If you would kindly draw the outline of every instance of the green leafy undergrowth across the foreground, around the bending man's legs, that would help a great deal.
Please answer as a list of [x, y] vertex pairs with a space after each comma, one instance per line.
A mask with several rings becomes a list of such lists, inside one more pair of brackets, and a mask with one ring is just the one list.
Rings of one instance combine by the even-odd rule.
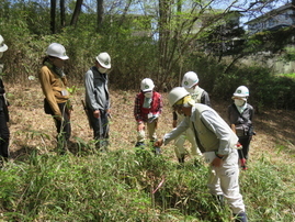
[[[2, 221], [230, 221], [208, 195], [207, 167], [149, 149], [32, 152], [0, 170]], [[265, 154], [240, 175], [251, 221], [293, 221], [294, 167]]]

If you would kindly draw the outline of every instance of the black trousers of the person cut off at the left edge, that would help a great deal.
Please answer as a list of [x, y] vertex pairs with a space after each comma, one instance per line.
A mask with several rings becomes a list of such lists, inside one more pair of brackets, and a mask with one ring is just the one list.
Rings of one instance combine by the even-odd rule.
[[9, 138], [10, 132], [7, 118], [3, 111], [0, 111], [0, 156], [7, 158], [9, 156]]

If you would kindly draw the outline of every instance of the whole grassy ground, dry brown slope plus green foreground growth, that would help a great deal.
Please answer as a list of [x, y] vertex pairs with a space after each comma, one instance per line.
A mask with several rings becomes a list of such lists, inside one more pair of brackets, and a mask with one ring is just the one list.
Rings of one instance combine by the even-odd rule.
[[[70, 153], [55, 152], [55, 126], [43, 111], [38, 82], [8, 85], [11, 158], [0, 170], [0, 221], [231, 221], [207, 193], [207, 167], [188, 155], [179, 168], [173, 144], [156, 156], [135, 152], [135, 91], [111, 90], [111, 146], [93, 147], [83, 113], [83, 88], [72, 95]], [[168, 108], [158, 135], [172, 129]], [[251, 100], [250, 100], [251, 101]], [[212, 98], [226, 118], [228, 101]], [[250, 102], [251, 103], [251, 102]], [[250, 163], [240, 174], [241, 193], [250, 221], [295, 221], [295, 112], [260, 110]], [[186, 144], [189, 147], [189, 144]]]

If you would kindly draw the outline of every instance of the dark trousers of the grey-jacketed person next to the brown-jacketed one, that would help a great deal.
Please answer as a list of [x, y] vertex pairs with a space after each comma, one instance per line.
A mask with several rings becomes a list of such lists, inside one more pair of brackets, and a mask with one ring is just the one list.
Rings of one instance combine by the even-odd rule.
[[109, 115], [105, 110], [100, 110], [100, 118], [94, 118], [89, 113], [89, 120], [93, 129], [93, 137], [97, 140], [97, 147], [102, 148], [109, 145]]

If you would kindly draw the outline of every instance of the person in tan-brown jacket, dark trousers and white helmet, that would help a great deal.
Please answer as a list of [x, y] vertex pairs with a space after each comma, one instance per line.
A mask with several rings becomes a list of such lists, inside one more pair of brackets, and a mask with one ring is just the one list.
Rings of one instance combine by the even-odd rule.
[[69, 57], [66, 49], [58, 43], [52, 43], [46, 51], [46, 57], [38, 73], [44, 99], [44, 111], [50, 114], [57, 130], [57, 148], [65, 154], [71, 135], [70, 113], [72, 108], [67, 90], [67, 77], [63, 70], [65, 60]]

